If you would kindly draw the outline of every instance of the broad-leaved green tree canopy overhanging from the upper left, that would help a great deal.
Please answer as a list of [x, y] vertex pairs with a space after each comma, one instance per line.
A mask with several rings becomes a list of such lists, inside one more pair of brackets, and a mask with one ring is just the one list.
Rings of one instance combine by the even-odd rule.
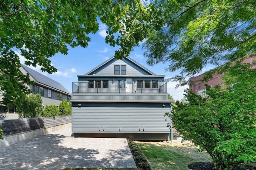
[[147, 37], [151, 29], [160, 29], [161, 10], [139, 0], [2, 0], [0, 5], [0, 88], [4, 101], [16, 104], [30, 90], [28, 75], [19, 70], [20, 58], [26, 65], [42, 66], [56, 72], [50, 57], [68, 54], [68, 45], [87, 47], [89, 35], [99, 23], [107, 27], [106, 43], [117, 45], [115, 57], [127, 57], [133, 47]]

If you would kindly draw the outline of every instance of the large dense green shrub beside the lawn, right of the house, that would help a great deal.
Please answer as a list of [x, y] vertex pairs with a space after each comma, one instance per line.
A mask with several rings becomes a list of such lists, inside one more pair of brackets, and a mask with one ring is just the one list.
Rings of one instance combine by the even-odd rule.
[[183, 139], [206, 150], [216, 169], [230, 170], [256, 161], [256, 69], [229, 66], [220, 86], [207, 86], [207, 98], [186, 90], [187, 103], [173, 109], [174, 128]]

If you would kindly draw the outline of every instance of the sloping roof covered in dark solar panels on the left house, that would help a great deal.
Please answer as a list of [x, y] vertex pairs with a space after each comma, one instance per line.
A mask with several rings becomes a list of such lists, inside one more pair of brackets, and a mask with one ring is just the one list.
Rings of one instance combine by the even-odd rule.
[[51, 78], [29, 68], [28, 66], [25, 66], [23, 64], [21, 64], [21, 66], [28, 72], [28, 74], [30, 74], [30, 76], [32, 76], [36, 80], [37, 83], [41, 83], [56, 90], [60, 90], [62, 92], [70, 94], [70, 92], [59, 82], [52, 80]]

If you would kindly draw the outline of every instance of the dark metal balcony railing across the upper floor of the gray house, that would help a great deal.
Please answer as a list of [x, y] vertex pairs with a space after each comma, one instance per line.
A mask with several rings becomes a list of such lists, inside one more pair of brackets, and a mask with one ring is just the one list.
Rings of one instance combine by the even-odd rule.
[[73, 93], [167, 93], [166, 83], [73, 82]]

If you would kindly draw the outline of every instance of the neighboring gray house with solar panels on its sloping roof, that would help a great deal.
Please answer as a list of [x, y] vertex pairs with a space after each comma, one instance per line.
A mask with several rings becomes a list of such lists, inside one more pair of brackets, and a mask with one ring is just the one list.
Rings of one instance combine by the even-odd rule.
[[[44, 76], [43, 74], [21, 64], [20, 70], [23, 74], [29, 74], [30, 80], [36, 82], [34, 85], [29, 85], [28, 87], [33, 90], [33, 94], [40, 94], [42, 96], [42, 107], [46, 105], [56, 105], [59, 106], [62, 100], [71, 99], [70, 92], [59, 82], [52, 80], [51, 78]], [[2, 101], [2, 96], [0, 94], [0, 102]], [[0, 106], [0, 115], [2, 119], [16, 119], [18, 115], [16, 114], [16, 106]]]

